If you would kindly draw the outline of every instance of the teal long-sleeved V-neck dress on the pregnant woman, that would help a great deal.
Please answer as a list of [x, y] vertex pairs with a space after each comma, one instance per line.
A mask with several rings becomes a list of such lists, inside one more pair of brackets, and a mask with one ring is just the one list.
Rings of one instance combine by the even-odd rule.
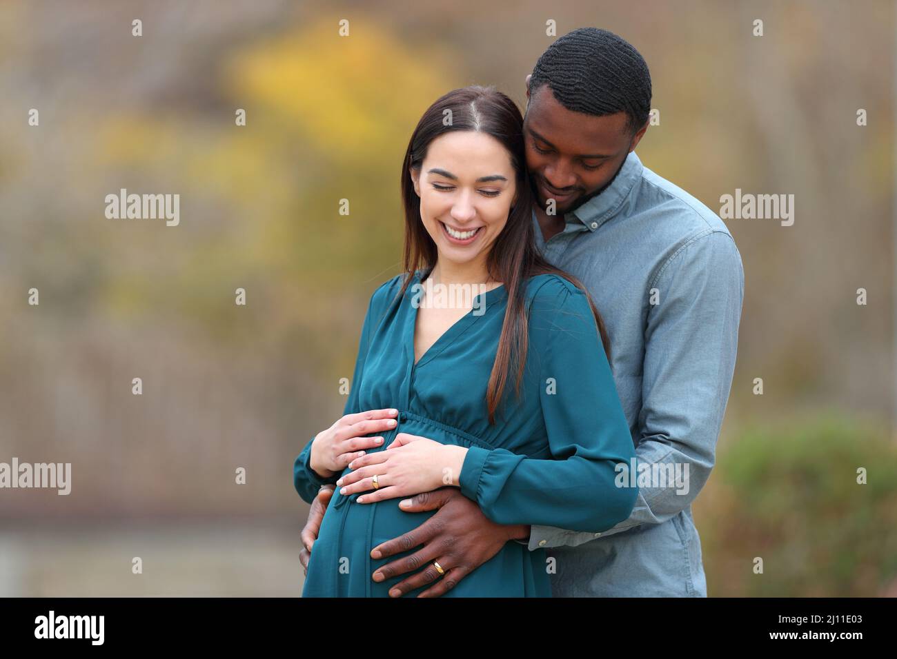
[[[526, 282], [529, 345], [520, 398], [515, 375], [490, 425], [486, 387], [507, 290], [502, 285], [483, 293], [484, 311], [475, 308], [449, 327], [415, 365], [413, 284], [422, 273], [398, 299], [402, 277], [370, 298], [345, 404], [344, 414], [398, 410], [396, 429], [371, 433], [385, 441], [369, 451], [386, 450], [399, 432], [467, 447], [460, 490], [499, 524], [601, 532], [628, 518], [638, 490], [617, 487], [614, 467], [630, 465], [635, 449], [585, 294], [554, 274]], [[342, 475], [319, 478], [309, 467], [310, 447], [309, 441], [293, 465], [294, 486], [309, 503], [321, 485]], [[359, 496], [337, 488], [330, 499], [303, 597], [388, 597], [389, 588], [408, 576], [371, 579], [377, 568], [419, 548], [387, 559], [371, 559], [370, 550], [435, 511], [403, 512], [401, 499], [359, 504]], [[444, 596], [550, 597], [551, 571], [544, 550], [511, 541]]]

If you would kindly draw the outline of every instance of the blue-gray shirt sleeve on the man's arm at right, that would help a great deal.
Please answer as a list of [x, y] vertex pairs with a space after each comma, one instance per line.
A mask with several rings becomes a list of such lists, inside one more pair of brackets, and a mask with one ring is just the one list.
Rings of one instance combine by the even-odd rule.
[[[649, 308], [645, 327], [636, 457], [640, 471], [667, 476], [640, 480], [631, 515], [601, 536], [662, 524], [692, 505], [710, 477], [735, 371], [745, 272], [731, 236], [714, 231], [692, 239], [650, 288], [659, 301]], [[675, 473], [678, 480], [668, 477]], [[529, 549], [597, 537], [559, 526], [534, 525]]]

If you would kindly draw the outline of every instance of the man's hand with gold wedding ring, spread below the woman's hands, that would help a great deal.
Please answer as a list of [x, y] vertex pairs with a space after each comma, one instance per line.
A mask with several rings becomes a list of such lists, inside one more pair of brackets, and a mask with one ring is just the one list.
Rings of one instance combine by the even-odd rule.
[[[526, 525], [495, 524], [457, 488], [423, 492], [414, 496], [411, 506], [399, 509], [407, 513], [436, 510], [436, 514], [413, 531], [383, 542], [370, 551], [372, 559], [383, 559], [423, 545], [414, 554], [378, 568], [371, 576], [379, 582], [423, 566], [421, 571], [394, 585], [389, 590], [390, 597], [400, 597], [436, 579], [439, 581], [418, 597], [445, 594], [501, 551], [506, 542], [529, 534], [529, 526]], [[433, 561], [440, 564], [443, 575], [440, 575]]]

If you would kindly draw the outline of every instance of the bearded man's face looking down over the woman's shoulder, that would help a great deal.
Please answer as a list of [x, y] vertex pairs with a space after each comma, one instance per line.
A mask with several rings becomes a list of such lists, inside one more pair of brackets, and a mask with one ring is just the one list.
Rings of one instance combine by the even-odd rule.
[[555, 202], [555, 214], [585, 204], [601, 193], [623, 167], [648, 126], [631, 134], [625, 112], [605, 117], [572, 112], [547, 84], [530, 96], [523, 121], [527, 169], [538, 204]]

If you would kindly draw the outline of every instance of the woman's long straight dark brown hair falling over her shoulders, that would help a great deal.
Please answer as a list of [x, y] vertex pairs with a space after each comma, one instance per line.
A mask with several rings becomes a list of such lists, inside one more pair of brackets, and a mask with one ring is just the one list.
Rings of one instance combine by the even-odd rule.
[[[450, 125], [443, 121], [445, 110], [451, 110]], [[430, 143], [441, 134], [451, 131], [478, 131], [492, 135], [510, 154], [511, 164], [517, 176], [517, 202], [511, 207], [508, 222], [492, 244], [486, 259], [489, 275], [496, 282], [504, 282], [508, 292], [508, 306], [501, 327], [498, 352], [492, 366], [492, 376], [486, 390], [486, 404], [490, 424], [495, 423], [495, 410], [508, 383], [513, 361], [517, 371], [516, 395], [520, 395], [520, 382], [527, 361], [527, 315], [524, 310], [525, 284], [530, 277], [553, 273], [562, 276], [586, 293], [589, 307], [607, 360], [610, 361], [610, 340], [604, 320], [588, 294], [588, 290], [575, 277], [549, 264], [536, 248], [532, 212], [534, 195], [527, 176], [527, 157], [523, 140], [523, 117], [513, 100], [494, 87], [479, 85], [449, 91], [436, 100], [414, 129], [402, 162], [402, 200], [405, 204], [405, 251], [403, 269], [405, 282], [398, 299], [405, 295], [408, 284], [418, 270], [425, 280], [436, 265], [436, 243], [423, 226], [421, 199], [414, 192], [410, 169], [420, 169]]]

